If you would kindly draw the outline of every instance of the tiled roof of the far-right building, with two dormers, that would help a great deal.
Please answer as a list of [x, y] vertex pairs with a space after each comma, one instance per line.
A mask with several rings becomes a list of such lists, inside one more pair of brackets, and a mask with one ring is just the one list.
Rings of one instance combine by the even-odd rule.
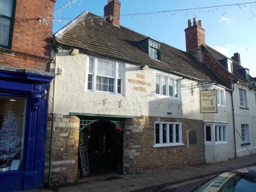
[[[228, 57], [226, 57], [225, 55], [223, 55], [222, 53], [216, 51], [215, 49], [213, 49], [212, 47], [208, 46], [208, 45], [203, 45], [204, 48], [212, 55], [212, 57], [217, 60], [217, 61], [220, 61], [220, 60], [223, 60], [223, 59], [230, 59]], [[232, 59], [230, 59], [232, 60]], [[221, 65], [221, 63], [219, 62], [219, 64]], [[241, 65], [239, 65], [236, 61], [232, 60], [232, 67], [233, 67], [233, 73], [230, 73], [228, 71], [227, 68], [225, 68], [223, 65], [222, 68], [223, 70], [226, 71], [226, 73], [230, 76], [233, 76], [233, 77], [236, 77], [238, 78], [239, 80], [242, 80], [244, 82], [248, 82], [248, 80], [246, 79], [246, 77], [239, 72], [240, 69], [244, 69]], [[253, 78], [250, 76], [250, 80], [253, 81]]]

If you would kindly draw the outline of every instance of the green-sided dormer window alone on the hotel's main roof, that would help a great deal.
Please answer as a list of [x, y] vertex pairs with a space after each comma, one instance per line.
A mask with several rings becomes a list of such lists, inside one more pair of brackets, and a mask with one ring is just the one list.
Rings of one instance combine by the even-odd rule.
[[151, 39], [150, 37], [147, 37], [138, 43], [151, 58], [161, 60], [160, 42]]

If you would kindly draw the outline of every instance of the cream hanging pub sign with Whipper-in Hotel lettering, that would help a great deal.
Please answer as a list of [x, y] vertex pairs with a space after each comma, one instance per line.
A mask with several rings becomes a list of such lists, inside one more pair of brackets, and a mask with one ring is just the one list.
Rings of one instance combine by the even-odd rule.
[[200, 113], [218, 113], [217, 89], [200, 91]]

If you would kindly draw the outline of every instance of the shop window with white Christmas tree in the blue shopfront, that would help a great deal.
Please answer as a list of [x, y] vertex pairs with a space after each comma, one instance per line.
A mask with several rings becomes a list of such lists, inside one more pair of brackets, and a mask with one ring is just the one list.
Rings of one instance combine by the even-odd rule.
[[0, 171], [21, 169], [26, 98], [0, 95]]

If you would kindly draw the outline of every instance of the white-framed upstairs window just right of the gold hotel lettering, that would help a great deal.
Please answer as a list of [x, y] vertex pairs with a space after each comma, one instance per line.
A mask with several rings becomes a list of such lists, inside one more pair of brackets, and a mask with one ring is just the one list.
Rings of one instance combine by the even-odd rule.
[[180, 98], [180, 80], [157, 74], [156, 94]]

